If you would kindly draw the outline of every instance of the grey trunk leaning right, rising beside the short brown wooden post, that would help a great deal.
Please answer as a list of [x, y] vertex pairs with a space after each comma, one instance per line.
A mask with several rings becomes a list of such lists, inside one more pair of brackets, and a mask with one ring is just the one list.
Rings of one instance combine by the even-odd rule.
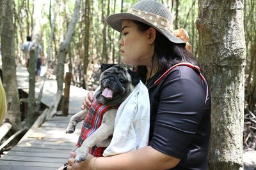
[[79, 18], [79, 9], [80, 9], [81, 0], [76, 0], [74, 13], [72, 15], [72, 19], [70, 24], [68, 25], [68, 30], [65, 35], [64, 41], [60, 45], [59, 50], [59, 58], [58, 58], [58, 66], [57, 66], [57, 83], [58, 83], [58, 92], [63, 91], [63, 76], [64, 76], [64, 64], [66, 61], [66, 55], [68, 52], [68, 45], [72, 39], [72, 35], [74, 33], [74, 29], [76, 26], [76, 22]]

